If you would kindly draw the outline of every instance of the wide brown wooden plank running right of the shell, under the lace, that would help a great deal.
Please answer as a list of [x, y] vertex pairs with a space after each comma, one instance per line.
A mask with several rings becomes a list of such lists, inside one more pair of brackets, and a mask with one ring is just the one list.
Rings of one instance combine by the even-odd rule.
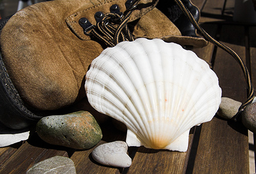
[[[220, 40], [245, 60], [243, 27], [223, 26]], [[243, 101], [246, 84], [238, 63], [217, 50], [215, 72], [223, 96]], [[193, 173], [249, 173], [248, 132], [240, 122], [215, 117], [202, 125]]]

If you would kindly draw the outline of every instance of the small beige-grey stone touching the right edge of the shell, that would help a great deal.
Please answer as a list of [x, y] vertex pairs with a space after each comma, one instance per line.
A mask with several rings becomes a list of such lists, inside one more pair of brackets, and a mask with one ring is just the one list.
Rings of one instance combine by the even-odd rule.
[[222, 118], [229, 120], [238, 113], [238, 109], [241, 105], [242, 103], [239, 101], [227, 97], [222, 97], [217, 114]]

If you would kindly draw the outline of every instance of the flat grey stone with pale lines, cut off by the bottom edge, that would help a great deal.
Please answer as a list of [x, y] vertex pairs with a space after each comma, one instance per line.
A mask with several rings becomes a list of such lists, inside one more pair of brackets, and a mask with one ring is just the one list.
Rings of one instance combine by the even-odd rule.
[[75, 174], [76, 169], [74, 162], [67, 157], [55, 156], [48, 158], [44, 161], [36, 163], [32, 166], [26, 174], [43, 174], [43, 173], [55, 173], [55, 174]]

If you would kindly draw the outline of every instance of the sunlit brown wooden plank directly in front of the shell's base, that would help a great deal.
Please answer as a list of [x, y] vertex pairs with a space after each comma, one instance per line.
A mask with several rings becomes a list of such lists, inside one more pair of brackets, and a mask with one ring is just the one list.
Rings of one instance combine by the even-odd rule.
[[127, 173], [185, 173], [194, 132], [195, 128], [191, 128], [188, 150], [184, 153], [139, 147]]

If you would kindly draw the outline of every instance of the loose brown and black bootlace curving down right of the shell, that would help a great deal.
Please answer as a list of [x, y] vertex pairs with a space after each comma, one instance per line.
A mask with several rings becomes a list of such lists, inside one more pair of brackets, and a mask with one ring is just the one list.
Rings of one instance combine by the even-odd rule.
[[229, 47], [225, 46], [224, 44], [222, 44], [221, 42], [215, 40], [214, 38], [212, 38], [208, 33], [206, 33], [197, 23], [196, 19], [194, 18], [194, 16], [190, 13], [190, 11], [186, 8], [186, 6], [184, 6], [184, 4], [181, 2], [181, 0], [175, 0], [175, 2], [178, 4], [178, 6], [180, 7], [180, 9], [183, 11], [183, 13], [187, 16], [187, 18], [190, 20], [190, 22], [194, 25], [194, 27], [208, 40], [210, 41], [212, 44], [216, 45], [217, 47], [220, 47], [221, 49], [223, 49], [224, 51], [228, 52], [234, 59], [236, 59], [236, 61], [239, 63], [243, 73], [244, 73], [244, 77], [245, 80], [247, 82], [247, 100], [240, 106], [238, 113], [233, 116], [233, 120], [237, 121], [238, 118], [241, 116], [242, 112], [244, 111], [245, 107], [250, 104], [254, 98], [254, 90], [253, 90], [253, 86], [252, 86], [252, 82], [251, 82], [251, 78], [250, 78], [250, 74], [248, 69], [246, 68], [243, 60], [239, 57], [239, 55], [234, 52], [232, 49], [230, 49]]

